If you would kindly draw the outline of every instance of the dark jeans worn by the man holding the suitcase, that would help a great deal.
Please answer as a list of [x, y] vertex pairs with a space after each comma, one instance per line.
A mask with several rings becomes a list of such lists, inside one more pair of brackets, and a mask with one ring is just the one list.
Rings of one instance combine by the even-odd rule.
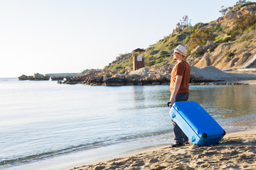
[[[188, 101], [188, 96], [189, 96], [189, 93], [177, 94], [175, 99], [176, 101]], [[172, 119], [171, 119], [171, 122], [174, 129], [174, 140], [177, 143], [188, 142], [188, 137], [183, 133], [181, 128], [178, 127], [176, 122], [174, 122], [174, 120]]]

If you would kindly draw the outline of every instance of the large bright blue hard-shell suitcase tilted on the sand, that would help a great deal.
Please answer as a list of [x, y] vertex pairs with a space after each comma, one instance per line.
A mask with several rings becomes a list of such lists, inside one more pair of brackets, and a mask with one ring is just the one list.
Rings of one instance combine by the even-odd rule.
[[170, 115], [193, 145], [214, 145], [225, 135], [225, 130], [196, 101], [177, 101]]

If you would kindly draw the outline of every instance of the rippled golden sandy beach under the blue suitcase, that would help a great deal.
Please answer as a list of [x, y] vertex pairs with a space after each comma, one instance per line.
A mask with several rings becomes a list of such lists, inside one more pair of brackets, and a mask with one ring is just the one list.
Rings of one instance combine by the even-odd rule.
[[166, 146], [73, 169], [256, 169], [256, 130], [228, 133], [219, 145]]

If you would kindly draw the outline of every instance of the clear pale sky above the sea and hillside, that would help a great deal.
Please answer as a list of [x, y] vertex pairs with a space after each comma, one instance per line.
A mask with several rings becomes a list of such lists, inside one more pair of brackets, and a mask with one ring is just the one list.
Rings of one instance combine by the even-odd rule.
[[234, 0], [0, 0], [0, 77], [102, 69]]

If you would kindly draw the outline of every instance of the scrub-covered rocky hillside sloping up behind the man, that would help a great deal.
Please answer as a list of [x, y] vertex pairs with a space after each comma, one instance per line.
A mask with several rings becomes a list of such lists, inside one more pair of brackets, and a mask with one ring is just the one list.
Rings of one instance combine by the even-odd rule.
[[[177, 23], [173, 33], [150, 45], [145, 52], [146, 67], [166, 72], [176, 64], [170, 53], [177, 45], [188, 48], [186, 60], [195, 67], [241, 68], [256, 54], [256, 3], [238, 1], [222, 8], [223, 16], [210, 23], [191, 26], [188, 16]], [[132, 53], [119, 55], [103, 70], [127, 72], [132, 69]]]

